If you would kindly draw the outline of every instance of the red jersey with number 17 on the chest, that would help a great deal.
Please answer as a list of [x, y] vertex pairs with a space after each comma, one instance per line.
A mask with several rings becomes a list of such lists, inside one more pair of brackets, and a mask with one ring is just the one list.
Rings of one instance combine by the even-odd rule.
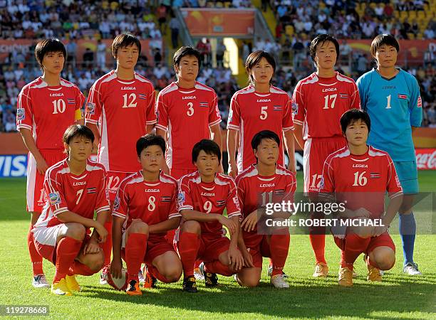
[[303, 126], [303, 139], [342, 136], [342, 114], [360, 109], [358, 88], [353, 79], [338, 72], [333, 78], [312, 73], [297, 83], [292, 109], [294, 123]]

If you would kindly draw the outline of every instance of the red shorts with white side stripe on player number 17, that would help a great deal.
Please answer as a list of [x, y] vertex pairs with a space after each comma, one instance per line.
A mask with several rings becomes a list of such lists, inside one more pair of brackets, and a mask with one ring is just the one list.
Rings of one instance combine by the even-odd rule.
[[324, 161], [333, 152], [347, 145], [344, 137], [308, 138], [304, 143], [304, 192], [318, 192]]

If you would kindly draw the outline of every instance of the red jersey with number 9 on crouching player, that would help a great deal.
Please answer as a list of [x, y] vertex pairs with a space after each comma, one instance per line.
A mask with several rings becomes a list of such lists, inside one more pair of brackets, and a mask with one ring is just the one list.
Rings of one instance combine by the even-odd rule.
[[[177, 207], [181, 210], [196, 210], [204, 214], [222, 215], [227, 208], [227, 217], [241, 215], [234, 181], [224, 174], [216, 174], [215, 181], [202, 182], [199, 172], [180, 178]], [[221, 234], [222, 224], [218, 221], [200, 223], [202, 235]]]

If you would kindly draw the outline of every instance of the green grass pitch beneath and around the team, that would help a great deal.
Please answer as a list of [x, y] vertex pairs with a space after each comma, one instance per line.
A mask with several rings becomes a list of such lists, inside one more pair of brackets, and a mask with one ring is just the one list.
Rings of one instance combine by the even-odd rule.
[[[299, 173], [299, 190], [302, 174]], [[436, 171], [420, 171], [421, 191], [436, 191]], [[285, 272], [290, 289], [274, 289], [266, 277], [261, 284], [244, 289], [232, 277], [220, 277], [218, 289], [199, 283], [198, 294], [182, 292], [181, 282], [158, 284], [141, 297], [128, 297], [98, 284], [98, 274], [78, 277], [83, 291], [73, 297], [54, 297], [48, 289], [31, 287], [31, 265], [26, 247], [29, 216], [25, 211], [24, 178], [0, 179], [0, 304], [48, 305], [57, 319], [436, 319], [436, 236], [418, 235], [415, 260], [422, 277], [402, 274], [403, 254], [398, 235], [397, 263], [381, 283], [368, 283], [361, 258], [355, 263], [354, 287], [337, 284], [339, 252], [331, 236], [326, 238], [327, 279], [313, 279], [313, 253], [307, 235], [291, 235]], [[433, 196], [433, 198], [435, 198]], [[434, 206], [434, 205], [433, 205]], [[44, 261], [50, 282], [54, 267]]]

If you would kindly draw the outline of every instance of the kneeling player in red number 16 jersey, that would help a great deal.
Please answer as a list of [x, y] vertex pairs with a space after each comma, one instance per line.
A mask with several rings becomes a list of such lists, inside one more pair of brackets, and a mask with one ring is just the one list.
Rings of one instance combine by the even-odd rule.
[[[365, 253], [368, 281], [381, 281], [380, 270], [390, 270], [395, 264], [395, 245], [388, 227], [400, 208], [403, 190], [388, 153], [366, 144], [368, 114], [347, 111], [341, 117], [341, 127], [348, 146], [326, 159], [320, 196], [331, 198], [328, 193], [335, 193], [336, 201], [346, 203], [348, 208], [342, 219], [363, 222], [358, 227], [346, 227], [345, 232], [332, 228], [336, 245], [344, 251], [338, 282], [349, 287], [353, 285], [353, 263], [361, 253]], [[390, 198], [386, 212], [385, 191]], [[380, 226], [375, 225], [375, 219], [381, 219]]]

